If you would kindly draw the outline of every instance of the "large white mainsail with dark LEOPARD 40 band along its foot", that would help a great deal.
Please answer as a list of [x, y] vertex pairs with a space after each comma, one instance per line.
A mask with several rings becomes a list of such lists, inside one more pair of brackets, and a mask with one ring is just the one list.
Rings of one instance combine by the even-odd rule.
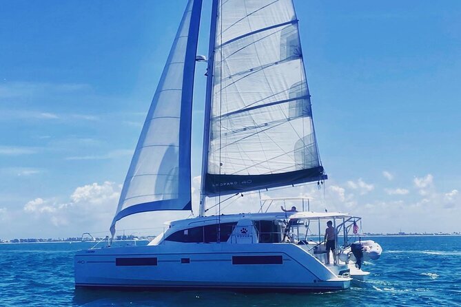
[[216, 13], [202, 193], [325, 179], [292, 1], [218, 0]]

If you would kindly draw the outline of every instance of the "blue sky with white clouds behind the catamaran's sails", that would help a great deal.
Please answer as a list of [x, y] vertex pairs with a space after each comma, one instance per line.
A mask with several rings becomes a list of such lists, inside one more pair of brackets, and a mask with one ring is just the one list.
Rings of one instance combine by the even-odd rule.
[[[185, 3], [0, 0], [0, 240], [107, 233]], [[364, 232], [461, 231], [461, 2], [294, 4], [329, 180], [263, 197], [309, 196], [313, 210], [361, 216]], [[198, 63], [194, 213], [204, 73]], [[246, 193], [224, 212], [258, 207]], [[132, 215], [118, 229], [156, 233], [189, 215]]]

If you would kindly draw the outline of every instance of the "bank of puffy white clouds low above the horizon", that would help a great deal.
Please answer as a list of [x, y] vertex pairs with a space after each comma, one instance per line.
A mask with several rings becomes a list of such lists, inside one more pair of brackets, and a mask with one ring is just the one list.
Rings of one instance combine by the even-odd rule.
[[[200, 192], [200, 176], [192, 179], [192, 206], [194, 213], [198, 213], [198, 201]], [[363, 180], [362, 180], [363, 181]], [[354, 185], [355, 184], [355, 185]], [[299, 187], [287, 187], [286, 189], [274, 189], [262, 193], [262, 198], [280, 198], [289, 196], [309, 196], [314, 198], [310, 202], [310, 209], [313, 211], [340, 211], [349, 212], [354, 215], [362, 216], [365, 231], [371, 232], [398, 232], [400, 225], [402, 231], [455, 231], [457, 219], [453, 218], [456, 210], [460, 207], [460, 193], [458, 190], [451, 190], [447, 193], [431, 191], [428, 195], [420, 196], [418, 193], [411, 193], [411, 197], [406, 200], [391, 199], [387, 195], [360, 195], [360, 180], [345, 185], [331, 182], [325, 189], [318, 189], [316, 184], [306, 184]], [[368, 187], [368, 189], [370, 189]], [[399, 191], [401, 190], [401, 191]], [[389, 191], [398, 191], [393, 195], [404, 195], [405, 189], [396, 188]], [[18, 229], [25, 233], [24, 225], [30, 225], [30, 229], [35, 229], [37, 236], [42, 233], [51, 233], [50, 236], [77, 236], [85, 231], [90, 231], [92, 235], [99, 237], [108, 234], [108, 227], [114, 217], [121, 184], [114, 182], [102, 182], [85, 184], [74, 189], [65, 200], [56, 198], [35, 198], [27, 202], [20, 213], [16, 211], [8, 212], [10, 217], [20, 217], [26, 221], [23, 229]], [[356, 193], [354, 192], [356, 191]], [[350, 193], [354, 192], [354, 193]], [[258, 212], [260, 200], [258, 193], [243, 193], [244, 196], [234, 196], [221, 204], [221, 213], [245, 213]], [[369, 193], [371, 194], [371, 193]], [[230, 195], [227, 195], [230, 196]], [[225, 198], [227, 198], [227, 196]], [[225, 199], [221, 198], [221, 200]], [[217, 204], [217, 198], [207, 198], [207, 208]], [[25, 202], [23, 202], [25, 203]], [[274, 202], [269, 211], [280, 211], [282, 202]], [[299, 201], [287, 201], [286, 206], [295, 205], [300, 209]], [[1, 207], [0, 207], [1, 208]], [[263, 209], [267, 209], [267, 204]], [[307, 209], [307, 206], [306, 206]], [[24, 216], [25, 213], [30, 218]], [[209, 209], [207, 215], [218, 213], [218, 207]], [[148, 234], [156, 235], [163, 229], [163, 222], [187, 218], [190, 211], [172, 212], [156, 211], [130, 215], [117, 223], [117, 234]], [[0, 211], [0, 220], [2, 218]], [[431, 218], [447, 220], [446, 224], [431, 223]], [[10, 218], [11, 221], [18, 220]], [[2, 221], [3, 222], [3, 221]], [[5, 222], [3, 222], [5, 224]], [[13, 225], [13, 222], [11, 222]], [[428, 226], [429, 225], [429, 226]], [[403, 227], [404, 226], [404, 227]], [[19, 227], [19, 226], [18, 226]], [[37, 232], [39, 229], [39, 232]], [[142, 230], [139, 230], [142, 229]], [[96, 231], [96, 233], [94, 233]], [[101, 234], [97, 233], [101, 231]], [[19, 235], [21, 236], [21, 235]]]

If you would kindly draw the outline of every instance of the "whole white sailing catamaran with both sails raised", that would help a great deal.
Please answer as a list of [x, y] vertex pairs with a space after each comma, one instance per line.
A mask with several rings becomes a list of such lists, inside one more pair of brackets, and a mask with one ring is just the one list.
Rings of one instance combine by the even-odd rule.
[[[257, 213], [205, 215], [209, 198], [321, 184], [327, 175], [292, 1], [213, 0], [208, 58], [196, 54], [201, 10], [202, 0], [188, 1], [110, 231], [114, 237], [116, 222], [134, 213], [192, 210], [194, 71], [206, 61], [199, 216], [170, 222], [146, 246], [78, 251], [75, 286], [320, 291], [365, 279], [362, 260], [381, 248], [349, 244], [354, 215], [269, 211], [278, 200], [264, 200]], [[322, 239], [329, 220], [333, 251]]]

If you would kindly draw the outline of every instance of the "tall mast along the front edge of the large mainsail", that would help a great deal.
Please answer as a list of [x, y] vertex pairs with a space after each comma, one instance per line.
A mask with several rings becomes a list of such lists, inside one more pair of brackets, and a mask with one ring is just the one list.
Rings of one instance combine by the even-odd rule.
[[205, 176], [207, 173], [208, 149], [209, 149], [209, 117], [212, 109], [213, 74], [214, 74], [214, 45], [216, 43], [216, 17], [218, 17], [218, 0], [213, 0], [212, 22], [209, 28], [207, 88], [205, 96], [205, 118], [203, 122], [203, 151], [202, 151], [202, 176], [200, 189], [200, 207], [198, 215], [205, 215]]

